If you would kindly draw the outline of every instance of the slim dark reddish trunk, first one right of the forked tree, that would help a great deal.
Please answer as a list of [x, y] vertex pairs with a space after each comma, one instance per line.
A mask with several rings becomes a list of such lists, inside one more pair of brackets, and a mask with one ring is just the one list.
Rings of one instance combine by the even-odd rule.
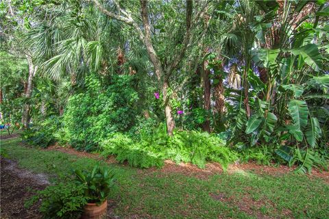
[[[210, 110], [210, 79], [209, 79], [209, 73], [210, 70], [206, 68], [206, 62], [202, 64], [202, 77], [204, 81], [204, 110], [206, 112], [209, 112]], [[204, 131], [207, 131], [210, 133], [210, 120], [209, 117], [206, 116], [206, 120], [204, 121], [204, 124], [202, 125]]]

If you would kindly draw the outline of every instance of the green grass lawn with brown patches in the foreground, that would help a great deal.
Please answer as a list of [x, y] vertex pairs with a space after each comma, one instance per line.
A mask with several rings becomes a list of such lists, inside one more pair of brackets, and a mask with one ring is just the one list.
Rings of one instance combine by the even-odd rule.
[[[97, 163], [57, 151], [26, 148], [19, 145], [18, 138], [4, 140], [1, 146], [22, 168], [51, 177], [71, 175], [74, 168], [90, 169]], [[197, 179], [109, 166], [118, 178], [110, 198], [115, 203], [114, 214], [122, 218], [329, 217], [329, 185], [316, 177], [292, 173], [274, 177], [241, 170]]]

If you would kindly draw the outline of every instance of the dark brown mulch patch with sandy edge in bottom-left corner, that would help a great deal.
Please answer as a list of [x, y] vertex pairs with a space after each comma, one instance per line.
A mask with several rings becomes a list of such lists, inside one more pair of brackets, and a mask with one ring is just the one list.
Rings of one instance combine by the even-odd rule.
[[41, 218], [38, 205], [30, 209], [24, 207], [24, 202], [31, 198], [35, 190], [43, 190], [47, 186], [47, 178], [34, 175], [17, 167], [16, 162], [3, 157], [1, 159], [1, 218]]

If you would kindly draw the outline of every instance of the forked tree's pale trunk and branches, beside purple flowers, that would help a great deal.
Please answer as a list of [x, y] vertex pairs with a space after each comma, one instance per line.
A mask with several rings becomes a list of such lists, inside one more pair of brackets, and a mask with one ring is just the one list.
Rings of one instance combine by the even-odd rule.
[[169, 136], [173, 135], [175, 122], [173, 119], [171, 106], [169, 105], [169, 78], [171, 77], [171, 74], [173, 73], [175, 68], [178, 67], [181, 60], [183, 59], [186, 49], [188, 49], [188, 47], [191, 45], [191, 40], [193, 38], [192, 29], [194, 29], [198, 25], [199, 18], [202, 17], [202, 15], [204, 14], [204, 9], [206, 8], [208, 1], [204, 1], [202, 4], [199, 5], [199, 10], [197, 10], [194, 20], [192, 20], [193, 1], [186, 1], [186, 29], [183, 33], [184, 38], [182, 39], [182, 42], [180, 42], [182, 46], [179, 50], [175, 50], [174, 53], [167, 54], [170, 55], [172, 58], [170, 61], [171, 63], [167, 65], [164, 61], [160, 60], [156, 50], [154, 49], [154, 43], [152, 42], [152, 34], [154, 35], [155, 33], [151, 32], [152, 27], [149, 22], [149, 17], [155, 16], [151, 16], [149, 14], [147, 8], [147, 1], [140, 1], [143, 29], [141, 29], [141, 26], [138, 24], [137, 20], [133, 18], [132, 14], [127, 10], [121, 8], [120, 4], [117, 3], [117, 1], [114, 1], [114, 3], [117, 5], [118, 13], [106, 10], [106, 8], [104, 8], [103, 5], [101, 5], [97, 0], [93, 0], [93, 2], [95, 3], [95, 5], [97, 5], [97, 8], [101, 10], [101, 12], [110, 16], [111, 18], [124, 22], [127, 25], [131, 25], [138, 33], [140, 40], [143, 42], [145, 48], [147, 49], [149, 59], [151, 60], [151, 63], [154, 67], [154, 73], [156, 74], [158, 83], [160, 84], [160, 88], [162, 90], [162, 96], [164, 101], [164, 114], [167, 120], [167, 133]]

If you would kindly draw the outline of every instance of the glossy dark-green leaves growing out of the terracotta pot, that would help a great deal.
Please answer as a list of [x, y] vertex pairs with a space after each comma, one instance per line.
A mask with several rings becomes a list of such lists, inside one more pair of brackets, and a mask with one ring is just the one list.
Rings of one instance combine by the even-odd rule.
[[110, 195], [114, 173], [109, 168], [96, 165], [91, 172], [75, 170], [75, 176], [81, 185], [86, 185], [85, 195], [88, 197], [88, 203], [103, 203]]

